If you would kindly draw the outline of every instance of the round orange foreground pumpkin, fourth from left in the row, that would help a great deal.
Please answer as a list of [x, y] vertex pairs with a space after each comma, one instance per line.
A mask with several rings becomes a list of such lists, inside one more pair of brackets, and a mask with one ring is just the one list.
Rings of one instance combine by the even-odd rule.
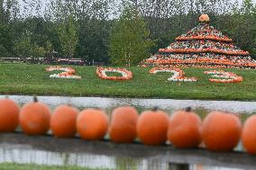
[[77, 130], [81, 139], [104, 139], [108, 128], [108, 117], [99, 109], [86, 109], [79, 113]]

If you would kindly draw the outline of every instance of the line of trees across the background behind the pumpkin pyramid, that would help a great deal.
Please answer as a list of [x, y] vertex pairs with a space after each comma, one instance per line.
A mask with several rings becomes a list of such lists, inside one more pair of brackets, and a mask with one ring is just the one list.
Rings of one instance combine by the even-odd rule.
[[[25, 2], [25, 1], [24, 1]], [[197, 26], [211, 24], [256, 58], [256, 5], [251, 0], [0, 0], [0, 57], [84, 58], [137, 65]]]

